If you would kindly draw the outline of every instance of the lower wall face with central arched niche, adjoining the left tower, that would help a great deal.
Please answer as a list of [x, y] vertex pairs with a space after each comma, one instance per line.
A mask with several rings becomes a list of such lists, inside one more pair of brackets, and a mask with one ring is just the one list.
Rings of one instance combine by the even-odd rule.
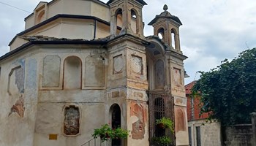
[[[65, 51], [63, 51], [65, 48]], [[101, 125], [108, 123], [106, 120], [109, 110], [105, 109], [105, 69], [108, 69], [108, 58], [105, 57], [105, 50], [99, 50], [98, 47], [80, 45], [64, 45], [59, 47], [45, 46], [42, 47], [41, 56], [39, 57], [39, 95], [38, 95], [38, 109], [37, 109], [37, 123], [35, 126], [35, 146], [69, 146], [82, 145], [84, 142], [91, 139], [91, 134], [94, 128], [99, 128]], [[47, 56], [56, 56], [60, 58], [60, 69], [56, 78], [59, 78], [59, 85], [56, 87], [42, 86], [43, 72], [43, 58]], [[58, 56], [58, 57], [57, 57]], [[67, 74], [67, 67], [65, 61], [67, 58], [80, 59], [79, 67], [82, 69], [72, 69], [70, 74]], [[89, 59], [90, 58], [90, 59]], [[102, 60], [104, 58], [104, 61]], [[94, 61], [96, 60], [96, 61]], [[59, 60], [57, 60], [59, 64]], [[93, 65], [102, 66], [99, 70], [92, 69], [90, 61]], [[52, 64], [56, 64], [53, 61]], [[75, 67], [75, 66], [74, 66]], [[101, 79], [96, 80], [95, 73], [100, 73]], [[76, 75], [81, 74], [81, 77]], [[66, 75], [65, 75], [66, 74]], [[47, 75], [47, 74], [46, 74]], [[72, 76], [74, 75], [74, 76]], [[64, 80], [72, 80], [75, 78], [81, 82], [80, 88], [65, 88]], [[50, 80], [49, 80], [50, 85]], [[80, 112], [80, 132], [77, 135], [64, 134], [64, 107], [74, 105], [79, 108]], [[57, 135], [56, 139], [49, 139], [50, 134]]]

